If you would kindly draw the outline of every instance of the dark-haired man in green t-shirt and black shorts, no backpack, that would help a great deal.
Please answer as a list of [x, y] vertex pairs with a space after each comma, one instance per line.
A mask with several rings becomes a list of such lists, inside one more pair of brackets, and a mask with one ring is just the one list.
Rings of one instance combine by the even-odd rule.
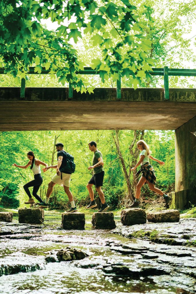
[[86, 208], [96, 208], [97, 204], [94, 201], [94, 192], [92, 186], [95, 185], [95, 188], [99, 194], [99, 198], [101, 199], [102, 206], [98, 212], [106, 211], [109, 208], [109, 205], [105, 202], [104, 192], [102, 191], [103, 180], [104, 180], [104, 169], [103, 169], [103, 158], [102, 153], [97, 149], [97, 143], [95, 141], [91, 141], [89, 144], [90, 151], [94, 152], [92, 166], [88, 167], [90, 171], [93, 168], [93, 176], [87, 184], [87, 189], [90, 195], [90, 204]]

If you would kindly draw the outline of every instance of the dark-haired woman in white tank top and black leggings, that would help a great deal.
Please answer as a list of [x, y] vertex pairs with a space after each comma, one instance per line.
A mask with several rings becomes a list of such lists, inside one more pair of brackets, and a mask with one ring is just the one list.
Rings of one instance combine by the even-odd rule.
[[29, 166], [30, 169], [33, 171], [33, 174], [34, 174], [34, 180], [33, 181], [30, 181], [28, 182], [27, 184], [25, 184], [23, 186], [25, 192], [27, 193], [28, 197], [29, 197], [29, 200], [27, 202], [25, 202], [25, 204], [33, 204], [35, 203], [34, 199], [32, 198], [31, 196], [31, 193], [29, 191], [29, 187], [33, 187], [33, 196], [39, 201], [39, 202], [42, 202], [42, 199], [40, 198], [40, 196], [37, 194], [42, 182], [43, 182], [43, 178], [41, 176], [41, 169], [40, 169], [40, 164], [47, 167], [48, 164], [43, 162], [43, 161], [40, 161], [38, 159], [35, 158], [35, 155], [33, 153], [33, 151], [29, 151], [27, 153], [27, 157], [29, 159], [29, 162], [26, 164], [26, 166], [19, 166], [18, 164], [14, 163], [12, 164], [13, 166], [16, 166], [16, 167], [20, 167], [20, 168], [28, 168]]

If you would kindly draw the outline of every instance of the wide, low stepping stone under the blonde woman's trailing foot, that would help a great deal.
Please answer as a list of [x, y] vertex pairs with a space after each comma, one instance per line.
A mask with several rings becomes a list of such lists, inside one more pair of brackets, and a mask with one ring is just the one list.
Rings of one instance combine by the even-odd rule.
[[168, 209], [147, 214], [147, 220], [152, 223], [175, 223], [180, 219], [180, 212], [176, 209]]

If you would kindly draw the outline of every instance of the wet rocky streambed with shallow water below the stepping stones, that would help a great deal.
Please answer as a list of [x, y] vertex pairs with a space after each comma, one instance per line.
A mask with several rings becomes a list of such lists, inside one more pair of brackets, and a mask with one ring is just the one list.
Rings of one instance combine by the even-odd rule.
[[42, 225], [1, 222], [0, 293], [196, 293], [195, 219], [115, 221], [95, 230], [87, 216], [85, 230], [73, 231], [52, 212]]

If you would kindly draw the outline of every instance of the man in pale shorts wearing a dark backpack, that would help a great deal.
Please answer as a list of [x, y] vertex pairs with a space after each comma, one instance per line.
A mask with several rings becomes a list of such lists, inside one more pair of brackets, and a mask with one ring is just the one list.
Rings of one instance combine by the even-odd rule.
[[40, 208], [47, 208], [48, 207], [48, 201], [50, 198], [50, 195], [52, 194], [53, 187], [58, 184], [60, 186], [63, 186], [65, 193], [67, 194], [69, 201], [71, 203], [71, 208], [67, 212], [75, 212], [77, 211], [77, 208], [75, 206], [72, 192], [70, 191], [70, 179], [71, 174], [75, 171], [75, 163], [74, 158], [69, 153], [65, 152], [63, 149], [62, 143], [55, 144], [56, 150], [57, 150], [57, 160], [58, 163], [55, 166], [47, 166], [46, 168], [43, 168], [43, 171], [47, 171], [49, 168], [56, 168], [56, 174], [53, 176], [52, 181], [48, 184], [48, 190], [46, 193], [45, 201], [38, 203], [40, 205]]

